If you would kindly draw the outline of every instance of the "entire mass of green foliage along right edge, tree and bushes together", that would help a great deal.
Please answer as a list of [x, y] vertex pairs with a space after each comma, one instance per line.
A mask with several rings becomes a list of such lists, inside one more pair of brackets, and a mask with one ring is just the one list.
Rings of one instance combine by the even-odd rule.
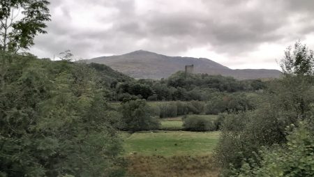
[[[285, 77], [269, 83], [269, 87], [258, 99], [255, 110], [235, 111], [235, 114], [222, 117], [222, 135], [216, 155], [223, 167], [223, 176], [231, 176], [232, 173], [237, 174], [239, 171], [240, 176], [298, 176], [298, 174], [311, 176], [312, 169], [308, 169], [308, 165], [313, 165], [312, 162], [308, 164], [302, 162], [303, 158], [308, 158], [307, 149], [302, 148], [308, 144], [308, 140], [301, 137], [308, 139], [308, 135], [304, 135], [302, 131], [295, 132], [296, 137], [287, 134], [293, 130], [290, 125], [294, 125], [298, 130], [300, 121], [313, 123], [314, 83], [313, 75], [310, 74], [311, 67], [307, 67], [312, 56], [311, 54], [308, 56], [307, 48], [299, 43], [296, 45], [294, 55], [289, 54], [290, 50], [288, 53], [285, 52], [286, 59], [283, 61]], [[313, 136], [313, 128], [310, 127], [306, 131], [311, 132]], [[275, 144], [278, 146], [273, 147]], [[300, 152], [297, 152], [296, 148], [292, 150], [295, 154], [291, 153], [290, 146], [300, 146]], [[274, 149], [260, 151], [262, 147]], [[294, 163], [292, 162], [294, 159], [301, 161]], [[278, 165], [274, 164], [277, 160]], [[257, 172], [260, 167], [261, 171]], [[251, 171], [253, 169], [257, 171]]]

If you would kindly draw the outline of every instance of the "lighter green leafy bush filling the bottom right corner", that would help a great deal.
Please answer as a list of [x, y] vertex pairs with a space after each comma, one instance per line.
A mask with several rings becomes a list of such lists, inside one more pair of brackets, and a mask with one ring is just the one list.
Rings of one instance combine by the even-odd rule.
[[314, 176], [314, 134], [306, 127], [301, 125], [291, 132], [283, 147], [262, 148], [262, 160], [258, 164], [244, 163], [234, 176]]

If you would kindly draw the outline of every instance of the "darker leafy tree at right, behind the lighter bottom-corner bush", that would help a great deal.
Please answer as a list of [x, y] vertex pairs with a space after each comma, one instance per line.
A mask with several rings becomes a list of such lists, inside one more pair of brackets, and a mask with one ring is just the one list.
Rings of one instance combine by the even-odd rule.
[[[269, 84], [254, 111], [225, 116], [216, 150], [224, 176], [231, 175], [230, 169], [238, 171], [244, 167], [242, 164], [252, 167], [254, 164], [262, 163], [264, 157], [260, 152], [262, 146], [268, 148], [274, 144], [286, 146], [290, 141], [287, 134], [291, 131], [287, 126], [299, 127], [300, 121], [307, 121], [313, 117], [311, 116], [314, 104], [314, 87], [311, 79], [313, 76], [310, 75], [310, 68], [300, 64], [306, 63], [308, 56], [300, 55], [298, 46], [294, 51], [297, 62], [289, 61], [293, 57], [287, 58], [286, 61], [294, 68], [287, 72], [284, 70], [285, 77]], [[269, 165], [271, 167], [271, 164]], [[273, 172], [275, 174], [276, 171]]]

